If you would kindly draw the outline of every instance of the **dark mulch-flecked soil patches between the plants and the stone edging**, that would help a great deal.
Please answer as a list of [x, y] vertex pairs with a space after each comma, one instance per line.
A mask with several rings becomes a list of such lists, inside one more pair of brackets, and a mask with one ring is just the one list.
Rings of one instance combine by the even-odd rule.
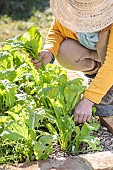
[[[108, 131], [106, 127], [100, 126], [97, 132], [93, 132], [93, 135], [100, 139], [99, 151], [113, 151], [113, 134]], [[82, 143], [80, 146], [81, 152], [79, 154], [94, 153], [96, 151], [91, 151], [91, 148], [86, 143]], [[49, 156], [52, 159], [60, 157], [73, 156], [71, 153], [63, 152], [59, 145], [54, 146], [53, 153]]]

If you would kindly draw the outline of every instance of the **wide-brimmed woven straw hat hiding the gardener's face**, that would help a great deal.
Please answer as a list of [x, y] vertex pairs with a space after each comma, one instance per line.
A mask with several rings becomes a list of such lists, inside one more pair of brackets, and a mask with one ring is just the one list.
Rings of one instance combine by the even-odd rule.
[[113, 0], [50, 0], [55, 18], [73, 32], [96, 32], [113, 23]]

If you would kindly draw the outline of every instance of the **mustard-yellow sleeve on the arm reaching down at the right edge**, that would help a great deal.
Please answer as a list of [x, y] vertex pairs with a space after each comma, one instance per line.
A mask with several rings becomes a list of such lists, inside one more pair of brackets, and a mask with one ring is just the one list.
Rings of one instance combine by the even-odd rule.
[[110, 28], [106, 60], [99, 69], [95, 79], [85, 91], [84, 97], [99, 104], [102, 97], [113, 85], [113, 26]]

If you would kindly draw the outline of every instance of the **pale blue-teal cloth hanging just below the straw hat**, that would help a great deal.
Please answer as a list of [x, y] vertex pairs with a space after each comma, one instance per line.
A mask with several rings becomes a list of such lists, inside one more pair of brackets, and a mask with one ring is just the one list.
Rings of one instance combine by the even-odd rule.
[[88, 49], [97, 50], [96, 43], [99, 40], [98, 32], [78, 33], [78, 41]]

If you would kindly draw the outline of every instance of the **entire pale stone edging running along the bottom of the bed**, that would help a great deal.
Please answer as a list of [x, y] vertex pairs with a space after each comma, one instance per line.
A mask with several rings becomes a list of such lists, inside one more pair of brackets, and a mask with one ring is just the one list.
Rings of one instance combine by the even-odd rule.
[[[113, 170], [113, 153], [110, 151], [82, 154], [19, 164], [7, 167], [8, 170]], [[1, 166], [0, 166], [1, 169]], [[4, 167], [4, 169], [6, 169]]]

